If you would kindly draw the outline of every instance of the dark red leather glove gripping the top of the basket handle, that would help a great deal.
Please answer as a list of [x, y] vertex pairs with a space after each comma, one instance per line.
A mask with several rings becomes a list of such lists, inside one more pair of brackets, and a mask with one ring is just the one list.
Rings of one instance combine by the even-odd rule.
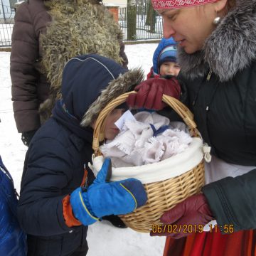
[[180, 98], [181, 86], [178, 80], [174, 77], [165, 78], [149, 78], [139, 85], [134, 90], [137, 94], [131, 94], [127, 97], [127, 105], [129, 107], [144, 107], [148, 110], [162, 110], [166, 104], [162, 102], [163, 94]]

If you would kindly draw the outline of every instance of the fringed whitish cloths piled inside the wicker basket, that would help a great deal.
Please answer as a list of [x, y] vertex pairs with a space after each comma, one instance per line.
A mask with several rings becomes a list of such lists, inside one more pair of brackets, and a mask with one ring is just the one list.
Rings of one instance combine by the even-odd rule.
[[[112, 159], [114, 167], [142, 166], [168, 159], [184, 151], [192, 142], [183, 122], [169, 122], [156, 112], [139, 112], [135, 121], [126, 120], [117, 137], [100, 147], [105, 157]], [[156, 137], [155, 131], [169, 127]]]

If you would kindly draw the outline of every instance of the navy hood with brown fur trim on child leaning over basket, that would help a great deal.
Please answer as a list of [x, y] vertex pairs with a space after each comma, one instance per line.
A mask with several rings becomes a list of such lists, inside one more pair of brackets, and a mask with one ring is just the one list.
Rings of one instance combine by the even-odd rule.
[[143, 77], [139, 68], [128, 71], [109, 58], [80, 55], [65, 65], [61, 87], [63, 99], [55, 108], [61, 106], [65, 111], [62, 117], [74, 117], [82, 127], [90, 127], [111, 100], [132, 90]]

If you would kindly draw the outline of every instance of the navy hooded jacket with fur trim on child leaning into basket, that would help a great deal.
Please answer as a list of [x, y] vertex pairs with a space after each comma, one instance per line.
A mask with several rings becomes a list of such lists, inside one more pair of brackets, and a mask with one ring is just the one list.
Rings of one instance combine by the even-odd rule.
[[[18, 219], [28, 233], [28, 255], [86, 254], [87, 227], [65, 224], [63, 198], [81, 185], [84, 165], [91, 160], [90, 124], [107, 102], [131, 90], [142, 77], [139, 70], [127, 72], [95, 54], [65, 65], [63, 99], [33, 137], [23, 169]], [[93, 178], [89, 172], [89, 183]]]

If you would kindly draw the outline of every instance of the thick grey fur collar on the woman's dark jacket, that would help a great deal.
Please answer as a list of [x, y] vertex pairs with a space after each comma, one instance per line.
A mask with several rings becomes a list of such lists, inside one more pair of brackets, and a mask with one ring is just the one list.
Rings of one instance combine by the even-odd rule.
[[237, 0], [237, 6], [207, 38], [203, 50], [193, 54], [178, 48], [182, 75], [195, 79], [212, 70], [228, 81], [256, 59], [256, 0]]

